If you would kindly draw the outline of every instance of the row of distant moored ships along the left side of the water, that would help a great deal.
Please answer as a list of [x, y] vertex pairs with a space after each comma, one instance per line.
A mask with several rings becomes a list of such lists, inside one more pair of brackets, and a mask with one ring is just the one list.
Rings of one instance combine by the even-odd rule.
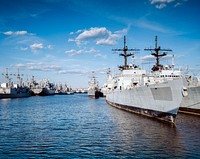
[[0, 99], [2, 98], [22, 98], [22, 97], [30, 97], [34, 95], [38, 96], [48, 96], [55, 94], [73, 94], [71, 88], [67, 87], [67, 85], [55, 85], [49, 80], [45, 79], [40, 82], [37, 82], [32, 79], [28, 82], [23, 82], [20, 77], [19, 71], [17, 74], [17, 82], [16, 84], [11, 81], [8, 74], [8, 69], [6, 73], [3, 74], [5, 78], [5, 83], [1, 83], [0, 85]]

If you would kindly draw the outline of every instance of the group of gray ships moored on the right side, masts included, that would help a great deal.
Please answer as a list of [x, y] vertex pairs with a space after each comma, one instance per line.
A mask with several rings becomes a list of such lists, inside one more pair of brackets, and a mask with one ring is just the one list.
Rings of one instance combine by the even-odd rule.
[[[147, 73], [134, 63], [127, 64], [127, 57], [134, 57], [133, 51], [139, 49], [128, 49], [125, 36], [124, 47], [113, 51], [123, 52], [120, 56], [124, 57], [124, 65], [119, 67], [119, 75], [112, 76], [109, 71], [107, 81], [101, 88], [109, 105], [173, 124], [178, 111], [200, 115], [200, 80], [175, 70], [174, 57], [171, 66], [160, 64], [160, 58], [172, 50], [157, 46], [157, 36], [155, 48], [145, 49], [156, 58], [151, 73]], [[100, 89], [94, 77], [91, 80], [88, 95], [98, 98], [95, 92]]]

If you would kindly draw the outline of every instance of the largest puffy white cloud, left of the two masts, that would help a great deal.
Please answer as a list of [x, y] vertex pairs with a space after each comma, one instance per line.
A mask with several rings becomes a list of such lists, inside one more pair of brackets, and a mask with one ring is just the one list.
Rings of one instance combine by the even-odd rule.
[[76, 44], [80, 45], [93, 41], [97, 45], [114, 45], [122, 35], [127, 33], [127, 29], [112, 33], [105, 27], [92, 27], [84, 31], [78, 30], [76, 33], [80, 34], [74, 39], [68, 39], [69, 42], [76, 42]]

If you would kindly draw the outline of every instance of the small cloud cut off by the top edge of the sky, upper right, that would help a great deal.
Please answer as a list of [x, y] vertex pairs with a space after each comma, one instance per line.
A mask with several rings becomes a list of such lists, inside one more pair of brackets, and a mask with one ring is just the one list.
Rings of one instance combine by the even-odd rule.
[[186, 0], [150, 0], [150, 3], [152, 5], [155, 5], [157, 9], [163, 9], [167, 7], [167, 4], [170, 4], [173, 2], [174, 7], [177, 7], [181, 5]]

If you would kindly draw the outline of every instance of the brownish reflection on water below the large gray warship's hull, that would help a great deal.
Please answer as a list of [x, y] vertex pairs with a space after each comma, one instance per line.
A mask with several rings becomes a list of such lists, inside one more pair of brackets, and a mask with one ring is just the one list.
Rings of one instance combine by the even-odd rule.
[[[177, 127], [112, 108], [107, 112], [110, 122], [115, 127], [115, 130], [111, 131], [109, 135], [117, 134], [117, 140], [112, 142], [115, 142], [115, 145], [123, 144], [123, 147], [120, 147], [121, 153], [135, 152], [133, 158], [138, 158], [139, 154], [142, 155], [144, 152], [153, 153], [153, 158], [159, 158], [161, 155], [161, 158], [184, 156], [183, 136]], [[138, 143], [140, 143], [139, 146]]]

